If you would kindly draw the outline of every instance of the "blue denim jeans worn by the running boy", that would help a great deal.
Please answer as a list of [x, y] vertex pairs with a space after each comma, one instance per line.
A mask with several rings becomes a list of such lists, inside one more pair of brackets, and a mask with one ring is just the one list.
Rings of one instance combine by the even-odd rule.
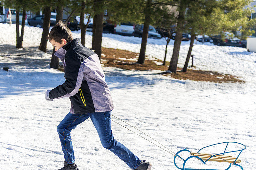
[[115, 153], [116, 156], [122, 159], [131, 169], [137, 168], [140, 165], [140, 159], [113, 137], [110, 111], [81, 115], [68, 113], [67, 116], [64, 117], [57, 126], [57, 131], [59, 133], [64, 158], [67, 163], [72, 164], [75, 162], [70, 132], [72, 129], [75, 129], [78, 124], [81, 124], [89, 117], [99, 134], [100, 142], [103, 147]]

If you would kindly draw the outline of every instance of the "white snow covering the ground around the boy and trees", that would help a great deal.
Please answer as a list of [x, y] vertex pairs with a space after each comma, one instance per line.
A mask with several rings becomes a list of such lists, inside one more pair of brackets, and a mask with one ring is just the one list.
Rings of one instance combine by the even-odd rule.
[[[56, 127], [68, 113], [70, 102], [67, 98], [53, 102], [44, 99], [45, 90], [64, 82], [64, 74], [49, 67], [51, 55], [37, 50], [41, 34], [41, 28], [26, 26], [24, 48], [16, 50], [15, 25], [10, 27], [0, 24], [2, 169], [53, 170], [63, 166], [64, 156]], [[80, 34], [73, 32], [73, 36], [77, 38]], [[91, 46], [91, 40], [92, 33], [87, 32], [87, 47]], [[103, 34], [102, 40], [104, 47], [133, 52], [139, 52], [140, 42], [141, 38], [113, 34]], [[172, 47], [173, 41], [168, 46], [167, 60], [171, 58]], [[189, 41], [182, 42], [179, 66], [185, 61], [188, 47]], [[51, 50], [52, 45], [48, 43], [47, 48]], [[164, 39], [148, 39], [146, 53], [149, 57], [163, 59], [164, 49]], [[135, 125], [173, 152], [183, 148], [197, 152], [206, 145], [225, 141], [243, 143], [247, 148], [239, 157], [242, 160], [240, 164], [244, 169], [255, 168], [256, 53], [239, 47], [198, 42], [192, 54], [197, 68], [241, 76], [246, 82], [243, 86], [220, 86], [193, 81], [193, 87], [187, 86], [186, 89], [185, 82], [188, 81], [156, 74], [159, 71], [103, 67], [115, 104], [111, 113]], [[2, 67], [10, 67], [9, 72], [3, 71]], [[112, 119], [118, 121], [114, 117]], [[118, 141], [140, 159], [152, 162], [152, 170], [177, 169], [171, 154], [114, 122], [112, 128]], [[72, 131], [72, 141], [80, 170], [129, 169], [112, 152], [101, 146], [90, 120]], [[221, 151], [225, 149], [223, 147]], [[234, 148], [238, 147], [229, 150]], [[207, 152], [217, 152], [215, 149]], [[196, 159], [188, 165], [203, 166]], [[215, 169], [227, 167], [227, 164], [216, 162], [210, 162], [209, 165]], [[232, 169], [239, 168], [232, 166]]]

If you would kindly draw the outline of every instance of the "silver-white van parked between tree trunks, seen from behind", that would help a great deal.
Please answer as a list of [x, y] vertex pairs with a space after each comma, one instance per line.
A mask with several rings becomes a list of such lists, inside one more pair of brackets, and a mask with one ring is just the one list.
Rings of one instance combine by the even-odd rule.
[[120, 34], [125, 36], [132, 36], [134, 32], [134, 24], [132, 23], [121, 23], [120, 25], [114, 26], [114, 34]]

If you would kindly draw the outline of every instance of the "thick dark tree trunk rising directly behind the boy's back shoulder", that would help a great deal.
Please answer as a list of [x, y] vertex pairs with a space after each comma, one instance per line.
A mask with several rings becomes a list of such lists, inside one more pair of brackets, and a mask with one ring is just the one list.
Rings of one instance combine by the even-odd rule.
[[104, 13], [100, 13], [94, 16], [92, 26], [92, 49], [101, 58], [101, 41], [103, 32], [103, 16]]

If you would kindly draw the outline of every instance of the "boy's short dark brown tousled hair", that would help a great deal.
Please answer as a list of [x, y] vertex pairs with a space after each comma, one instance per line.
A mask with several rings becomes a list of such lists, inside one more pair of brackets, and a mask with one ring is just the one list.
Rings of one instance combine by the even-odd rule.
[[55, 42], [61, 43], [61, 39], [66, 39], [67, 42], [70, 42], [73, 40], [73, 36], [67, 25], [65, 25], [62, 21], [59, 21], [52, 27], [48, 40], [54, 40]]

